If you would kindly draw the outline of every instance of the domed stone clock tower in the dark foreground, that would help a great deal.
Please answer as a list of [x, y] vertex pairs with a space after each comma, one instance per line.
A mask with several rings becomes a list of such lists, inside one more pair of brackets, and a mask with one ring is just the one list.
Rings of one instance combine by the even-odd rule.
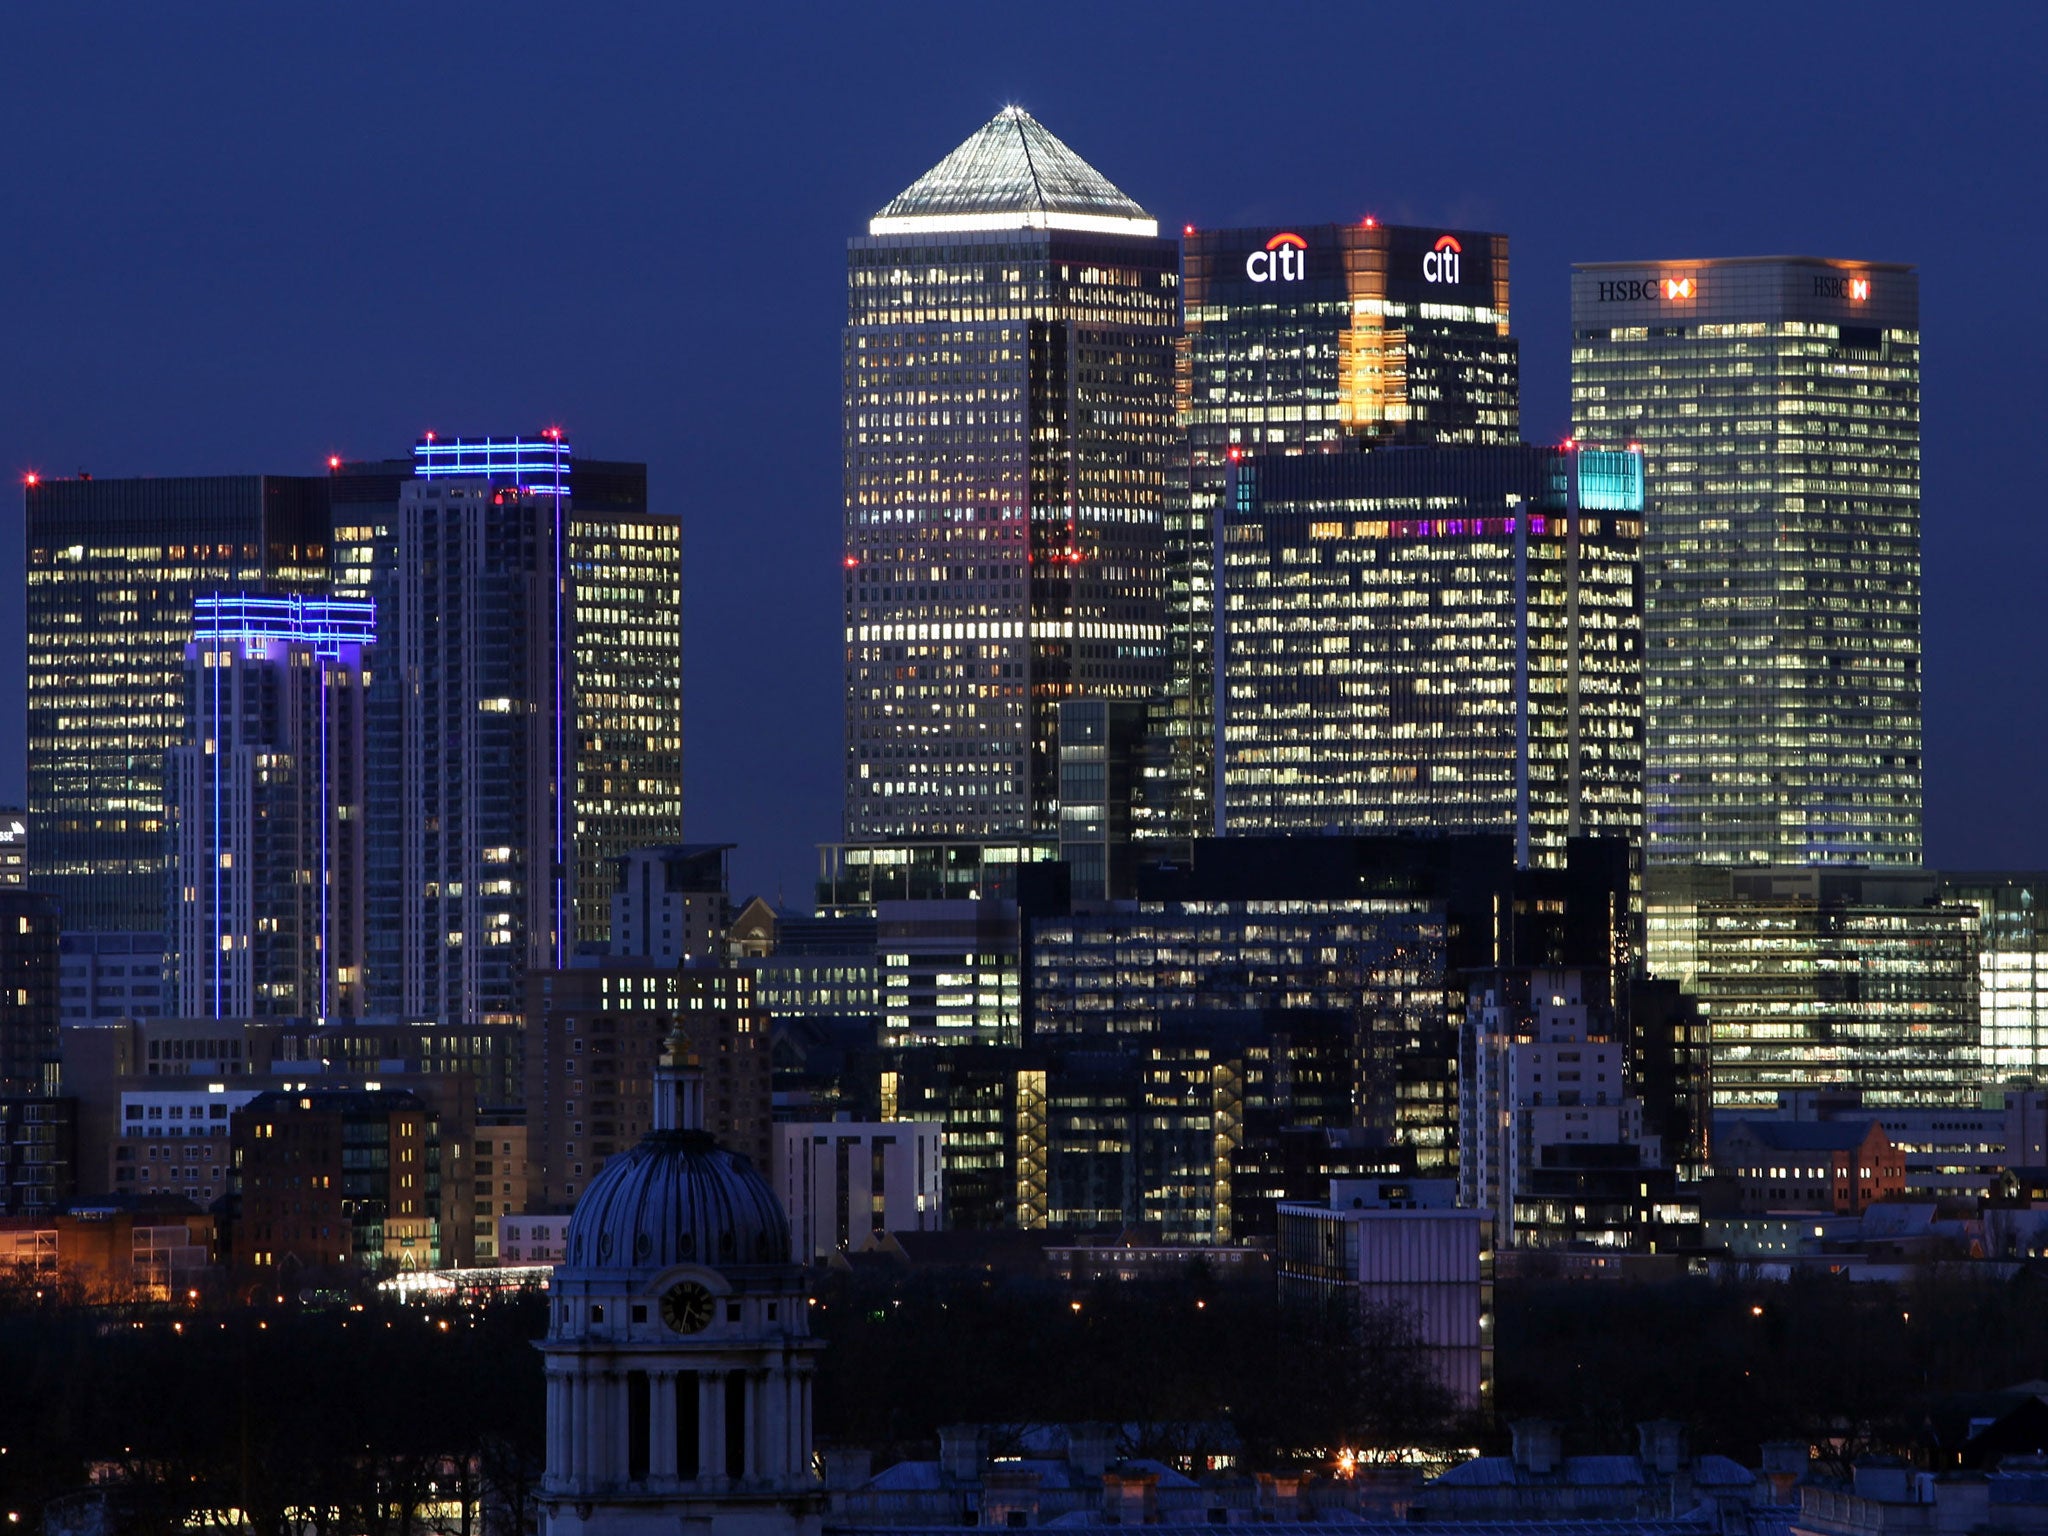
[[547, 1536], [817, 1536], [811, 1337], [788, 1219], [702, 1128], [680, 1032], [653, 1124], [569, 1219], [549, 1292]]

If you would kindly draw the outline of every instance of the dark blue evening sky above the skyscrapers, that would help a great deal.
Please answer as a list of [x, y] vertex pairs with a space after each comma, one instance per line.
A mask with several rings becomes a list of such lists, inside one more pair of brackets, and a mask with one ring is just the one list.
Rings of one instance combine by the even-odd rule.
[[2042, 866], [2044, 57], [2038, 4], [16, 4], [0, 469], [545, 422], [647, 459], [688, 834], [801, 899], [840, 817], [844, 238], [1004, 102], [1167, 227], [1505, 229], [1532, 438], [1567, 424], [1573, 260], [1917, 262], [1929, 860]]

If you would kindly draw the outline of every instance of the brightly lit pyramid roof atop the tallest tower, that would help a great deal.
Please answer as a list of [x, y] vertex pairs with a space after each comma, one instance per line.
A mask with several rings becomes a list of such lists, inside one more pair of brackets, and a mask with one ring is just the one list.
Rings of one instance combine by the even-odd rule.
[[1083, 229], [1157, 236], [1159, 221], [1022, 106], [1004, 106], [868, 219], [870, 236]]

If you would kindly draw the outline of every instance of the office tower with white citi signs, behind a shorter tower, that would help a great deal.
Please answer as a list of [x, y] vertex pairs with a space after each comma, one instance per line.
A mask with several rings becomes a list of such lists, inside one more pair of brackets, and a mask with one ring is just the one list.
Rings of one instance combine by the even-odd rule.
[[1360, 223], [1186, 231], [1188, 483], [1167, 522], [1167, 829], [1214, 821], [1214, 520], [1231, 453], [1516, 442], [1507, 236]]

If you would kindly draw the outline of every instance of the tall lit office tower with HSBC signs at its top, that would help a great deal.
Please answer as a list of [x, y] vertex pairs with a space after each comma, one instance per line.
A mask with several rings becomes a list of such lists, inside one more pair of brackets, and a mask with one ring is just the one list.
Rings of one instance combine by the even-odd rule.
[[1573, 430], [1638, 442], [1651, 862], [1919, 864], [1919, 276], [1571, 276]]

